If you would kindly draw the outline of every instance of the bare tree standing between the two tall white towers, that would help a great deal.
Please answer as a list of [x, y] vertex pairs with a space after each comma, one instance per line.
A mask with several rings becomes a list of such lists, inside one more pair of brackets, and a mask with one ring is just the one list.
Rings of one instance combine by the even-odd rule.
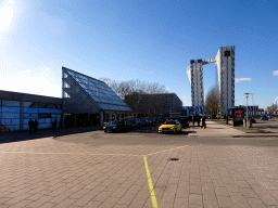
[[214, 86], [206, 94], [205, 98], [205, 110], [211, 117], [217, 114], [217, 108], [220, 104], [220, 96], [218, 87]]

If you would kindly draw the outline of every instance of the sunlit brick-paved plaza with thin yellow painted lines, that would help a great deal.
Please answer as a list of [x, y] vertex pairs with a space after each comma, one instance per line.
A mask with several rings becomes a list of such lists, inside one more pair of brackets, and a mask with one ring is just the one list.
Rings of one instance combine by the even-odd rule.
[[2, 136], [0, 208], [278, 208], [278, 136], [245, 134], [207, 121], [180, 134]]

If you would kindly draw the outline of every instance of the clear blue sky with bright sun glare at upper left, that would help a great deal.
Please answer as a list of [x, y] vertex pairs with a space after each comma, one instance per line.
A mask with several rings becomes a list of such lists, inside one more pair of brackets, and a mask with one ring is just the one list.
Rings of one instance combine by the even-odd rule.
[[[277, 37], [276, 0], [4, 0], [0, 89], [61, 98], [65, 66], [94, 78], [159, 82], [191, 105], [190, 60], [236, 46], [236, 105], [250, 92], [265, 108], [278, 101]], [[203, 69], [206, 94], [215, 65]]]

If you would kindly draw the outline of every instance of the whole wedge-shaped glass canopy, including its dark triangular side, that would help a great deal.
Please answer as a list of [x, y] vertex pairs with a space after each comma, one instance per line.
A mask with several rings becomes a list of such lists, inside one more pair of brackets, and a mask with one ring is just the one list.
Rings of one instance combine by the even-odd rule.
[[132, 112], [103, 81], [62, 67], [64, 113]]

